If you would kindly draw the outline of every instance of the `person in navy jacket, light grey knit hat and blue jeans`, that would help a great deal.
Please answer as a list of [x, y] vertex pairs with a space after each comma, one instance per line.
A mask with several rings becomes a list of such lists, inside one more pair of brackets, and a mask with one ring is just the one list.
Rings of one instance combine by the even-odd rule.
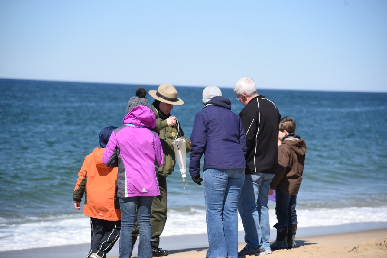
[[218, 87], [203, 91], [204, 108], [195, 116], [189, 171], [201, 185], [200, 158], [204, 153], [204, 198], [208, 258], [238, 257], [237, 204], [245, 178], [246, 139], [241, 118]]

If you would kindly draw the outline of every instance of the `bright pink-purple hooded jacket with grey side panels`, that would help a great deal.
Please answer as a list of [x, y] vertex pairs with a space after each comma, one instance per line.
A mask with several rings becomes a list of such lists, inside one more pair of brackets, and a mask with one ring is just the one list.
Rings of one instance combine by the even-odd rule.
[[158, 167], [164, 162], [156, 127], [156, 116], [147, 106], [133, 108], [111, 133], [103, 163], [118, 167], [118, 196], [160, 195]]

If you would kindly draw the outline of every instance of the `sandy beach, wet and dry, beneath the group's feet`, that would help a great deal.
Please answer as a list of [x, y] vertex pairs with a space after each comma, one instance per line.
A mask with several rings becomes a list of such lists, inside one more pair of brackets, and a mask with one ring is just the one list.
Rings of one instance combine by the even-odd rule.
[[[243, 232], [239, 232], [239, 249], [244, 247]], [[275, 239], [271, 231], [271, 241]], [[346, 224], [341, 226], [300, 228], [296, 243], [299, 248], [273, 251], [271, 258], [387, 258], [387, 223]], [[2, 251], [4, 258], [83, 258], [89, 250], [89, 244], [52, 246], [14, 251]], [[137, 257], [136, 244], [132, 258]], [[170, 251], [170, 258], [205, 258], [208, 248], [206, 234], [188, 234], [161, 238], [160, 246]], [[106, 256], [118, 257], [118, 243]], [[255, 257], [255, 256], [253, 256]]]

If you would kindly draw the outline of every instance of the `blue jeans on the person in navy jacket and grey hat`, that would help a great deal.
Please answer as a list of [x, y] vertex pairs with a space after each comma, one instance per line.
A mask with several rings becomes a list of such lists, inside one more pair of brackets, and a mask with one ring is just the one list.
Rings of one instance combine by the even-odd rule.
[[209, 258], [238, 257], [238, 200], [244, 169], [206, 169], [204, 198], [207, 210]]

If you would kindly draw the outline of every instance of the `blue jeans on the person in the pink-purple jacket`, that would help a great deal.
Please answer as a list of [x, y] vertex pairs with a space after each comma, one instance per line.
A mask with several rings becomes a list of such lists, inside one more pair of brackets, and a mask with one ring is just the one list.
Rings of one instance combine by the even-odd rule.
[[132, 231], [137, 210], [137, 222], [140, 231], [139, 258], [152, 258], [151, 246], [151, 207], [153, 196], [146, 197], [120, 197], [121, 206], [121, 235], [119, 258], [130, 258], [132, 256]]

